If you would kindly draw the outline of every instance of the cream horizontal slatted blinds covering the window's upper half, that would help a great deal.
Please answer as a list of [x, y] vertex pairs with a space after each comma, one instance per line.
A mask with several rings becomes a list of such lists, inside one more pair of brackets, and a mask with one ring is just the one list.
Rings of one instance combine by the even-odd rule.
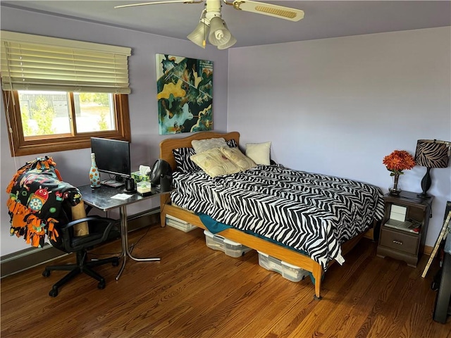
[[2, 30], [4, 90], [130, 94], [131, 49]]

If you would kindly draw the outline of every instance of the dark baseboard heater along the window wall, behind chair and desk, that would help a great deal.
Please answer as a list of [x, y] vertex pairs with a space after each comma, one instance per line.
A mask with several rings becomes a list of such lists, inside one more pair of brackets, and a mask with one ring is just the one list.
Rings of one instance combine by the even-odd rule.
[[[137, 213], [127, 218], [128, 231], [138, 230], [142, 227], [147, 227], [160, 223], [160, 208], [154, 208], [149, 211]], [[0, 258], [0, 278], [21, 271], [34, 268], [37, 265], [48, 263], [56, 258], [67, 256], [68, 253], [63, 253], [55, 249], [50, 244], [44, 244], [43, 248], [30, 247], [10, 253]]]

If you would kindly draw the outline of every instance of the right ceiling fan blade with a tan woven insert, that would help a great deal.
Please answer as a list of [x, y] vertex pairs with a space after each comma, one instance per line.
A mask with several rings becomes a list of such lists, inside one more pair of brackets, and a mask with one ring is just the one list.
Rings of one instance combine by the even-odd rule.
[[257, 1], [235, 0], [233, 1], [233, 7], [235, 9], [241, 9], [242, 11], [270, 15], [291, 21], [299, 21], [304, 18], [304, 11], [301, 11], [300, 9], [265, 4]]

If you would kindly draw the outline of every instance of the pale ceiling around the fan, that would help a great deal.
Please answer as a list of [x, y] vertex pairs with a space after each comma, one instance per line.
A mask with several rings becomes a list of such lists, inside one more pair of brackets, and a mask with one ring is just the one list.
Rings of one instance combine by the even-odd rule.
[[[0, 1], [25, 8], [94, 23], [187, 39], [204, 4], [159, 4], [114, 9], [143, 1]], [[362, 35], [376, 32], [451, 26], [451, 1], [261, 1], [302, 9], [298, 22], [237, 11], [223, 5], [222, 17], [239, 46]]]

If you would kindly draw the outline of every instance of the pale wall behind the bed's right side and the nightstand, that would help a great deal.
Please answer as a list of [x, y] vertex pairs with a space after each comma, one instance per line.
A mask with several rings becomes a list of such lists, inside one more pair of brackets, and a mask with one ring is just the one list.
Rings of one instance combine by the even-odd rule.
[[[387, 192], [382, 164], [417, 139], [451, 141], [450, 27], [229, 51], [228, 130], [240, 144], [272, 142], [290, 168], [362, 180]], [[421, 192], [426, 168], [402, 189]], [[451, 200], [451, 167], [432, 169], [435, 196], [426, 245], [434, 246]]]

